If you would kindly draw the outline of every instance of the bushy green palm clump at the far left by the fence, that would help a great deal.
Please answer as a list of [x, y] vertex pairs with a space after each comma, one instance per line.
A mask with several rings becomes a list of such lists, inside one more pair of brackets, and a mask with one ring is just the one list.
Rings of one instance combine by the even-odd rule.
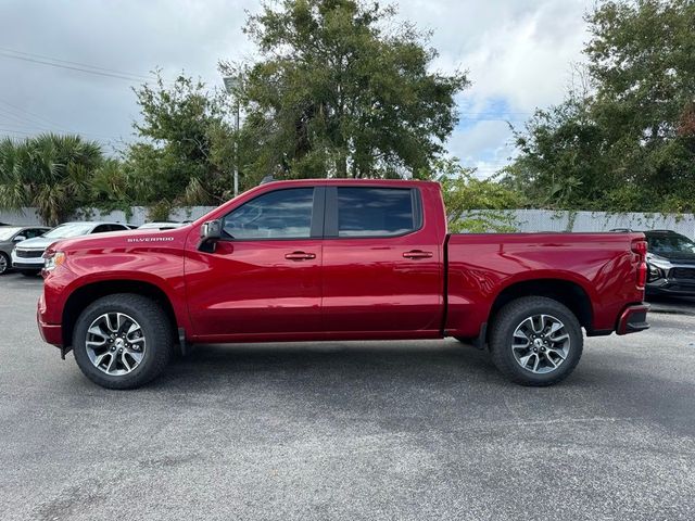
[[35, 206], [43, 223], [56, 225], [89, 201], [101, 148], [79, 136], [41, 135], [0, 141], [0, 208]]

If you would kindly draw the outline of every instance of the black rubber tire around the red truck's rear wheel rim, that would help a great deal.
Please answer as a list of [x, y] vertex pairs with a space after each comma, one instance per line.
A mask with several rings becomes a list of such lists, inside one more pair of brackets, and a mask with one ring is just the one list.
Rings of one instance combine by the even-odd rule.
[[[514, 333], [525, 320], [530, 317], [549, 315], [557, 318], [569, 335], [569, 347], [564, 361], [556, 369], [549, 369], [549, 364], [544, 363], [548, 372], [538, 373], [530, 368], [521, 367], [517, 361], [514, 343]], [[540, 328], [539, 328], [540, 329]], [[523, 339], [521, 340], [523, 342]], [[531, 386], [553, 385], [567, 378], [579, 364], [582, 356], [584, 338], [579, 320], [569, 308], [553, 298], [544, 296], [526, 296], [511, 301], [495, 315], [490, 333], [490, 352], [492, 360], [500, 371], [515, 383]], [[531, 346], [531, 341], [529, 341]], [[523, 354], [523, 351], [521, 351]], [[535, 355], [532, 355], [535, 356]], [[553, 356], [556, 361], [558, 357]], [[535, 359], [535, 358], [533, 358]]]

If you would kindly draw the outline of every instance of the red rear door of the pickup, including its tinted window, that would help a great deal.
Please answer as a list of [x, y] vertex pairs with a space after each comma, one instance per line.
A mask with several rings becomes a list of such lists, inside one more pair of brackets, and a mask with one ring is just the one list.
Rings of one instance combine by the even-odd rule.
[[439, 331], [442, 259], [431, 226], [417, 188], [326, 188], [323, 313], [329, 335]]

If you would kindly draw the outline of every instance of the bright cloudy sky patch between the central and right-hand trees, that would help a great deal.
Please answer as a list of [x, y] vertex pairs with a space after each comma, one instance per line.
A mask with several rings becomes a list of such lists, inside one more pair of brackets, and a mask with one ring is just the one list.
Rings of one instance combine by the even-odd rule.
[[472, 81], [457, 100], [462, 125], [447, 142], [452, 155], [482, 177], [507, 164], [515, 150], [500, 119], [520, 127], [535, 107], [563, 100], [570, 63], [582, 59], [589, 9], [583, 0], [401, 3], [403, 17], [433, 30], [441, 51], [434, 66], [467, 69]]

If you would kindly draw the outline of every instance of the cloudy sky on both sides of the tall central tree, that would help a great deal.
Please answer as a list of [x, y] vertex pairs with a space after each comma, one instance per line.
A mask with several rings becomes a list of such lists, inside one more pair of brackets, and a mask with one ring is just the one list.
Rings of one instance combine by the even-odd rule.
[[[448, 151], [488, 176], [514, 153], [508, 123], [563, 99], [586, 41], [583, 0], [401, 0], [433, 31], [441, 71], [467, 69]], [[222, 86], [220, 59], [253, 56], [241, 31], [254, 0], [0, 0], [0, 136], [74, 131], [131, 139], [130, 86], [155, 67]], [[47, 64], [52, 63], [53, 65]], [[61, 65], [61, 66], [55, 66]], [[88, 65], [86, 67], [85, 65]], [[99, 67], [99, 68], [96, 68]], [[89, 68], [100, 74], [85, 73]]]

